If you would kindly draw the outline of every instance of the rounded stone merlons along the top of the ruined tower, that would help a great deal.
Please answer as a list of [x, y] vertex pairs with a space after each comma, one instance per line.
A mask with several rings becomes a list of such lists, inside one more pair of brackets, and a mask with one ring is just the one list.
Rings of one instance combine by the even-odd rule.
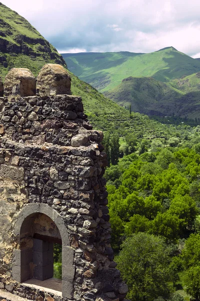
[[4, 86], [0, 78], [0, 96], [48, 96], [71, 95], [71, 78], [67, 70], [57, 64], [45, 64], [37, 79], [26, 68], [12, 68], [5, 76]]

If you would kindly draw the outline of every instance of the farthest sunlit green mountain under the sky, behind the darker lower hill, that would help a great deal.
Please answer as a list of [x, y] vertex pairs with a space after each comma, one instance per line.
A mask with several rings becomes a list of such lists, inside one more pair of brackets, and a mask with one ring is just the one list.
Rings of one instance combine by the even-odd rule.
[[153, 77], [162, 82], [200, 71], [200, 62], [167, 47], [147, 54], [128, 52], [63, 54], [68, 69], [100, 92], [110, 91], [124, 78]]

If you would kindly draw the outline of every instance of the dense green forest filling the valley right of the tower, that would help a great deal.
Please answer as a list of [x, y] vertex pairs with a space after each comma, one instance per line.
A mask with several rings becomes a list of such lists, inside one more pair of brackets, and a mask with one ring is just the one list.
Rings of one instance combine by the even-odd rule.
[[165, 143], [129, 134], [122, 158], [117, 133], [104, 136], [111, 244], [132, 301], [200, 297], [198, 130]]

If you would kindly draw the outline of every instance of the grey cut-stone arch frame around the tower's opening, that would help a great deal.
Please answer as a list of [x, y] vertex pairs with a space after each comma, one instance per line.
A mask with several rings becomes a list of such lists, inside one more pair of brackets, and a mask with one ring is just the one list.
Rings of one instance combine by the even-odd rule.
[[[41, 215], [47, 216], [57, 227], [62, 241], [62, 296], [72, 298], [73, 296], [73, 278], [75, 268], [73, 265], [74, 250], [69, 245], [67, 228], [56, 210], [47, 204], [27, 204], [20, 211], [14, 227], [14, 235], [18, 249], [13, 250], [12, 259], [12, 279], [17, 282], [23, 282], [29, 277], [29, 266], [31, 262], [33, 247], [21, 245], [20, 239], [25, 231], [31, 228], [31, 219]], [[23, 265], [23, 270], [22, 270]], [[27, 266], [27, 269], [26, 269]]]

